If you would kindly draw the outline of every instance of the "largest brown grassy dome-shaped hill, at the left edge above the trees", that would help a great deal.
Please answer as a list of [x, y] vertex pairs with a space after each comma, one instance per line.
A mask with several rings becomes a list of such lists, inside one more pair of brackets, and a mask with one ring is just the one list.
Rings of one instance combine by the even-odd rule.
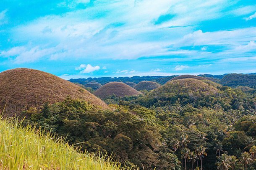
[[6, 104], [5, 113], [20, 113], [29, 107], [39, 107], [44, 102], [62, 101], [68, 95], [83, 99], [103, 109], [108, 106], [85, 89], [43, 71], [12, 69], [0, 73], [0, 110]]

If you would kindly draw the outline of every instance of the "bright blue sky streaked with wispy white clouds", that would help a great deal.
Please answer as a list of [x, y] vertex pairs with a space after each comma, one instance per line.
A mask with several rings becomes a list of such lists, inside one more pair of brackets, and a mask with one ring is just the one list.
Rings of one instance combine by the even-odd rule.
[[256, 72], [255, 0], [1, 0], [0, 72]]

